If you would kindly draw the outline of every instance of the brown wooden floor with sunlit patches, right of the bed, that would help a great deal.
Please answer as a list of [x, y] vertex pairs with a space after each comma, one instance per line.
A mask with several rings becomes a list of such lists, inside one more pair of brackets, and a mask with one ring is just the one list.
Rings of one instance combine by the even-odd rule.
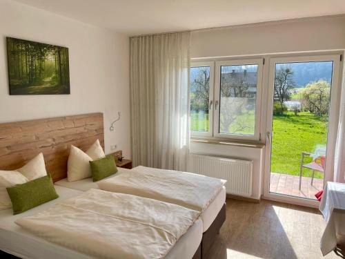
[[[207, 259], [323, 258], [325, 222], [317, 209], [262, 200], [226, 200], [226, 222]], [[324, 258], [339, 258], [329, 253]]]

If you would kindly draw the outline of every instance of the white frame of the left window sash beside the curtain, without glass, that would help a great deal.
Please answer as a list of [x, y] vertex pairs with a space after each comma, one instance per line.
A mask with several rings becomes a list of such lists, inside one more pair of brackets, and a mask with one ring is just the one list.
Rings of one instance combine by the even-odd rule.
[[[191, 137], [207, 137], [213, 136], [213, 91], [214, 91], [214, 81], [215, 81], [215, 62], [214, 61], [198, 61], [190, 62], [190, 68], [197, 68], [200, 66], [210, 67], [210, 93], [208, 94], [208, 131], [192, 131], [190, 129]], [[189, 106], [190, 109], [190, 106]]]

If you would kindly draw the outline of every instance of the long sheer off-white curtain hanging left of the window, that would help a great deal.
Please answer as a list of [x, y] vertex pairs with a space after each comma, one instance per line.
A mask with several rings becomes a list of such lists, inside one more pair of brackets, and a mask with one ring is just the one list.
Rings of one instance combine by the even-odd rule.
[[132, 162], [186, 171], [190, 33], [130, 39]]

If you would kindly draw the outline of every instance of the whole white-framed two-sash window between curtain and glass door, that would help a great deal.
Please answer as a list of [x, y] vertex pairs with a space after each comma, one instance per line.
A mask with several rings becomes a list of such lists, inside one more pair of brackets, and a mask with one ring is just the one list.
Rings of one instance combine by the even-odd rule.
[[[262, 61], [193, 63], [190, 68], [192, 136], [259, 140]], [[213, 73], [216, 75], [214, 96]]]

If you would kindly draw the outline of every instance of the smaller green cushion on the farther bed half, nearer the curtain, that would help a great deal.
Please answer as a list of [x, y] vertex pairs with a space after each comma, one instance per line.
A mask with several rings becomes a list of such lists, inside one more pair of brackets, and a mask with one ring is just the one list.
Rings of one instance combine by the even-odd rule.
[[90, 166], [92, 179], [94, 182], [97, 182], [117, 172], [114, 155], [107, 155], [104, 158], [90, 161]]

